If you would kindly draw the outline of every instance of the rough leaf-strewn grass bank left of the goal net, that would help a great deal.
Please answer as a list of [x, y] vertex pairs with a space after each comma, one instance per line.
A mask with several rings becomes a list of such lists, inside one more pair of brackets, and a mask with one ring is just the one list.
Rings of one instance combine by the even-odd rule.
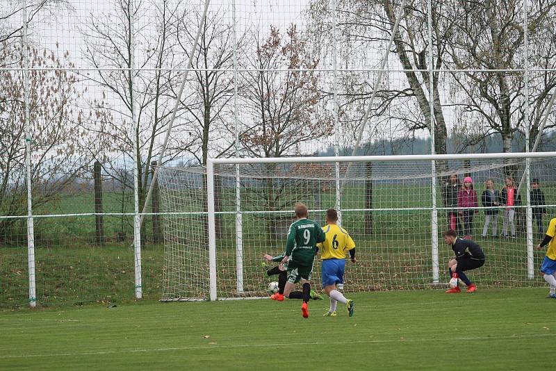
[[[160, 299], [163, 246], [142, 250], [142, 289], [147, 299]], [[104, 247], [74, 244], [35, 248], [39, 306], [130, 302], [135, 295], [133, 249], [124, 243]], [[26, 306], [26, 247], [0, 247], [0, 308]]]

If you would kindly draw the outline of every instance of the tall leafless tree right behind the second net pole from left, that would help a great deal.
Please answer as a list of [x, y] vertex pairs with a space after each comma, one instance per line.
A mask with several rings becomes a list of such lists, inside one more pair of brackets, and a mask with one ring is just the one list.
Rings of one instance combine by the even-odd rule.
[[[145, 205], [151, 174], [149, 167], [161, 151], [161, 138], [167, 131], [176, 99], [176, 85], [183, 73], [174, 70], [183, 65], [183, 60], [176, 58], [177, 35], [174, 33], [174, 24], [184, 15], [181, 13], [183, 6], [180, 1], [171, 3], [171, 7], [170, 3], [169, 0], [136, 2], [131, 15], [129, 1], [119, 0], [115, 12], [101, 19], [91, 14], [91, 21], [83, 29], [83, 34], [90, 40], [84, 51], [85, 57], [98, 68], [95, 74], [86, 77], [103, 89], [101, 99], [91, 100], [95, 120], [88, 129], [100, 137], [99, 145], [91, 151], [95, 157], [101, 157], [105, 171], [118, 176], [120, 183], [127, 174], [118, 164], [121, 156], [115, 154], [132, 158], [136, 152], [140, 210]], [[154, 17], [147, 18], [147, 15]], [[132, 44], [131, 22], [138, 24], [139, 21], [153, 27], [136, 29], [133, 37], [137, 41]], [[140, 50], [142, 58], [135, 66], [135, 75], [132, 75], [134, 49]], [[137, 117], [137, 131], [131, 130], [133, 110]], [[186, 130], [189, 122], [181, 113], [181, 110], [177, 113], [174, 133], [178, 134], [171, 138], [165, 161], [181, 156], [193, 141]], [[138, 143], [136, 148], [133, 147], [134, 141]], [[123, 172], [120, 174], [118, 169]]]

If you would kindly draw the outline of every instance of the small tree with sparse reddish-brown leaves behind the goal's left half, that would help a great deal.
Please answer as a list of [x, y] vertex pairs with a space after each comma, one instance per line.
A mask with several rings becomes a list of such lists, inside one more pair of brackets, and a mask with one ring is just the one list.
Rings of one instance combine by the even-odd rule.
[[[302, 145], [325, 138], [334, 128], [332, 113], [322, 99], [320, 75], [314, 71], [318, 59], [312, 58], [309, 44], [294, 24], [286, 35], [271, 26], [264, 40], [254, 35], [254, 42], [252, 72], [247, 74], [242, 92], [252, 122], [244, 122], [247, 129], [242, 145], [247, 154], [256, 157], [301, 154]], [[254, 195], [261, 200], [258, 206], [270, 211], [291, 207], [292, 198], [287, 195], [302, 182], [292, 175], [297, 170], [268, 164], [259, 171], [269, 178]], [[268, 236], [275, 236], [277, 223], [279, 220], [270, 217]]]

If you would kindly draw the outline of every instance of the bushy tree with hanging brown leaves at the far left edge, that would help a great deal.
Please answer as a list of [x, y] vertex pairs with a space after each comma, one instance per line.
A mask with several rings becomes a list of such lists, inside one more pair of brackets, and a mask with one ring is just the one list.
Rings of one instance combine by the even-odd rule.
[[[1, 58], [17, 59], [21, 47], [13, 45], [11, 53], [3, 50]], [[86, 159], [82, 146], [88, 137], [80, 129], [77, 117], [81, 94], [76, 90], [77, 77], [63, 68], [74, 67], [68, 52], [31, 48], [28, 90], [31, 126], [33, 207], [54, 203], [67, 196], [65, 192], [76, 176], [83, 172]], [[22, 68], [22, 61], [17, 66]], [[49, 70], [51, 67], [61, 68]], [[0, 101], [0, 212], [22, 215], [26, 211], [25, 104], [22, 70], [0, 72], [4, 99]], [[0, 221], [0, 236], [15, 220]]]

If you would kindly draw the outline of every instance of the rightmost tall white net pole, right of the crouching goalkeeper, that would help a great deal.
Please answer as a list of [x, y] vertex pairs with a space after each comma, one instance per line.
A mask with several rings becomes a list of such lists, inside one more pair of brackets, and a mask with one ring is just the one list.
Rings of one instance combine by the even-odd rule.
[[[525, 107], [523, 115], [523, 126], [525, 127], [525, 152], [529, 152], [529, 135], [530, 135], [530, 119], [529, 119], [529, 27], [528, 27], [528, 0], [523, 1], [523, 43], [525, 47], [525, 72], [523, 74], [523, 94], [525, 95]], [[530, 194], [531, 179], [531, 160], [525, 159], [525, 186], [527, 199], [527, 273], [529, 278], [534, 277], [534, 255], [533, 255], [533, 215], [531, 209]]]

